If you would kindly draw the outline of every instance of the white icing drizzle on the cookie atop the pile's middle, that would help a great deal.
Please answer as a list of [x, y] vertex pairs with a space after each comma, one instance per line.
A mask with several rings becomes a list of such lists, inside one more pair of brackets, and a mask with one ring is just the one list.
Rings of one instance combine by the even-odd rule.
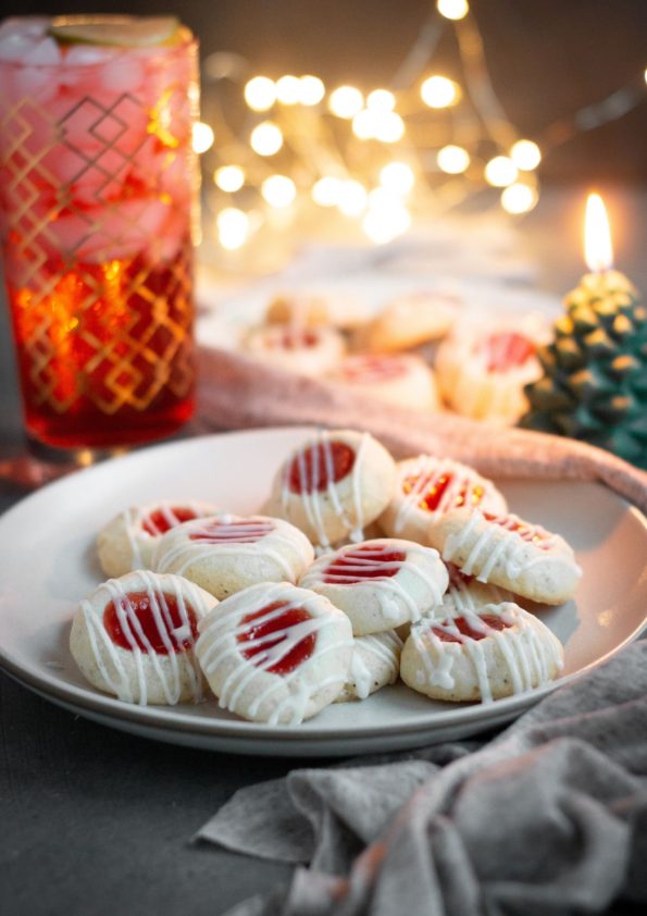
[[[406, 547], [403, 546], [405, 544]], [[361, 553], [363, 547], [371, 547], [371, 550], [366, 552], [365, 557], [358, 556], [358, 553]], [[389, 553], [405, 554], [405, 559], [385, 560], [380, 557], [380, 554]], [[380, 607], [387, 620], [399, 620], [400, 608], [397, 603], [398, 598], [407, 607], [409, 619], [418, 620], [421, 616], [419, 604], [400, 581], [399, 574], [403, 570], [408, 570], [428, 589], [434, 604], [439, 604], [443, 601], [443, 591], [438, 582], [426, 569], [410, 559], [415, 555], [426, 558], [432, 553], [435, 554], [436, 552], [430, 547], [422, 547], [419, 544], [409, 542], [389, 542], [385, 539], [373, 547], [372, 542], [366, 541], [358, 547], [341, 547], [333, 556], [322, 557], [306, 571], [300, 584], [302, 587], [312, 589], [313, 591], [324, 591], [326, 585], [338, 585], [349, 589], [354, 586], [372, 586], [377, 592]], [[348, 554], [352, 556], [347, 559]], [[331, 572], [331, 568], [340, 560], [344, 562], [343, 571]], [[394, 568], [396, 570], [395, 572], [393, 571]], [[371, 571], [375, 573], [381, 569], [384, 569], [384, 575], [371, 574], [370, 577], [362, 577], [362, 572]]]

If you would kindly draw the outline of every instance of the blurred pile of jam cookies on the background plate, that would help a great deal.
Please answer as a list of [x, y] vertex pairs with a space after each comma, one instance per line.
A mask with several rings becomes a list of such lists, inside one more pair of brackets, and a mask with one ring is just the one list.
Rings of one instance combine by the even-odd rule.
[[542, 374], [536, 348], [546, 333], [536, 314], [485, 322], [439, 292], [397, 296], [376, 315], [358, 298], [284, 295], [240, 346], [275, 368], [409, 410], [445, 407], [511, 425], [527, 408], [524, 385]]

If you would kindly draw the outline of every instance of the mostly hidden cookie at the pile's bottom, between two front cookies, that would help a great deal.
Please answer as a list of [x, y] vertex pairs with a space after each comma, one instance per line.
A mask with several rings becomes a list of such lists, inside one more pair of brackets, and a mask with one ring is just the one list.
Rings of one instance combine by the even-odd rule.
[[335, 703], [365, 700], [398, 680], [402, 640], [395, 630], [357, 636], [348, 681]]

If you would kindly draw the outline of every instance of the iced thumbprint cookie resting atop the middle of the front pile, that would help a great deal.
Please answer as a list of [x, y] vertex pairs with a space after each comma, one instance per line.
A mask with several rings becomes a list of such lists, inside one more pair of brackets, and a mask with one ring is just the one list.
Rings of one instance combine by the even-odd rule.
[[447, 583], [437, 550], [387, 537], [320, 557], [299, 582], [347, 614], [356, 636], [418, 620], [441, 603]]

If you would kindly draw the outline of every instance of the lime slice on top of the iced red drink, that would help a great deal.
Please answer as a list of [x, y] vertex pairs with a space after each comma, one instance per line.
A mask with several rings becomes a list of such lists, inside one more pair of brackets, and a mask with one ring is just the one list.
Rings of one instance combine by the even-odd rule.
[[184, 30], [175, 16], [55, 16], [48, 33], [67, 44], [153, 48], [176, 44]]

